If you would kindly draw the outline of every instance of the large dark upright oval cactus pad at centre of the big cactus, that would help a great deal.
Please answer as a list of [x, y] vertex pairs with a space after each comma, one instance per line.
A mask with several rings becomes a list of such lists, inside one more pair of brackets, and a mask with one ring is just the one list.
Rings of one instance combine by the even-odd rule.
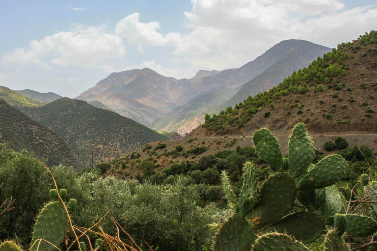
[[291, 210], [295, 203], [295, 180], [287, 173], [275, 173], [262, 186], [260, 202], [250, 214], [255, 229], [268, 226]]

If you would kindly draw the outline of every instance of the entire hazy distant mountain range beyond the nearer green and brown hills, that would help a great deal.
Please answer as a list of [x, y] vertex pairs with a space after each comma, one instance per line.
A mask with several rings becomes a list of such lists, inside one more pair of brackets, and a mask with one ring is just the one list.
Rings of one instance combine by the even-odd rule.
[[329, 50], [286, 40], [238, 69], [199, 71], [190, 79], [166, 77], [148, 68], [112, 73], [77, 99], [98, 100], [153, 129], [185, 134], [204, 122], [205, 113], [242, 101], [246, 89], [247, 96], [266, 91]]

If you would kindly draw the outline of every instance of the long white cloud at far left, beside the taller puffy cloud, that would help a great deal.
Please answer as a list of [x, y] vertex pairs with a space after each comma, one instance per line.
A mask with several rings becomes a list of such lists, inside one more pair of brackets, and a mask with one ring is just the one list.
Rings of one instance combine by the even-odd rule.
[[16, 49], [4, 55], [3, 62], [36, 64], [45, 69], [54, 69], [56, 65], [95, 67], [97, 62], [124, 54], [119, 37], [106, 33], [106, 27], [89, 26], [31, 41], [28, 50]]

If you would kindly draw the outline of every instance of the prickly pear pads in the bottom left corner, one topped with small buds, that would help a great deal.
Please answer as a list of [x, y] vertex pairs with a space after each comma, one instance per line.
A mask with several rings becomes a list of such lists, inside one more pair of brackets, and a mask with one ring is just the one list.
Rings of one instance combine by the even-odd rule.
[[[60, 189], [59, 195], [63, 201], [67, 196], [67, 190]], [[58, 200], [57, 191], [50, 190], [50, 202], [39, 213], [35, 222], [30, 244], [30, 251], [54, 251], [59, 248], [68, 230], [68, 215], [63, 203]], [[67, 203], [69, 212], [76, 208], [77, 201], [70, 199]], [[55, 247], [54, 247], [55, 246]], [[0, 251], [21, 251], [22, 249], [11, 241], [5, 241], [0, 245]]]

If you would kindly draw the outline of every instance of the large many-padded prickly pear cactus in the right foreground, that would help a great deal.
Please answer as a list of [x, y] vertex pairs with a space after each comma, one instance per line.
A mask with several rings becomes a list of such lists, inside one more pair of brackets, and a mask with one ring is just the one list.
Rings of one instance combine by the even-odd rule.
[[[220, 227], [214, 249], [272, 249], [265, 248], [269, 246], [307, 250], [298, 241], [305, 244], [316, 240], [323, 233], [325, 222], [331, 222], [328, 218], [343, 213], [342, 195], [333, 184], [345, 175], [347, 162], [332, 154], [313, 164], [315, 146], [302, 123], [293, 128], [287, 158], [268, 129], [256, 131], [253, 141], [258, 154], [275, 173], [258, 189], [254, 165], [246, 163], [238, 200], [226, 173], [222, 173], [225, 195], [234, 215]], [[294, 205], [304, 210], [289, 214]], [[260, 233], [268, 234], [258, 237]]]

